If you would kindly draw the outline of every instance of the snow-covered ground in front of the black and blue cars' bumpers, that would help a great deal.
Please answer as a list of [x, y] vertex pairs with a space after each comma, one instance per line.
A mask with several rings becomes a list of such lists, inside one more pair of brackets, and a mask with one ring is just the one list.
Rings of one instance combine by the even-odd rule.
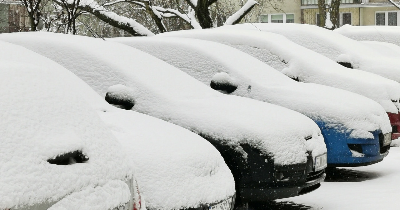
[[374, 165], [336, 168], [314, 192], [278, 201], [312, 206], [314, 210], [398, 209], [400, 148]]

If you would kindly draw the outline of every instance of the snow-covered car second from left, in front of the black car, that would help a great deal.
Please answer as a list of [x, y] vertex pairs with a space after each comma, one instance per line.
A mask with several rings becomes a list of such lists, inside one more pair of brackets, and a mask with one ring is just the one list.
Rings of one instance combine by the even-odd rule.
[[[42, 75], [42, 71], [38, 71], [40, 82], [54, 84], [48, 79], [53, 80], [53, 77], [56, 77], [54, 82], [59, 82], [62, 78], [62, 82], [58, 84], [63, 84], [64, 91], [87, 99], [120, 141], [123, 147], [121, 150], [125, 150], [126, 156], [132, 161], [141, 198], [146, 201], [147, 209], [219, 209], [220, 206], [224, 206], [224, 209], [231, 210], [235, 199], [232, 173], [219, 151], [206, 139], [158, 118], [116, 108], [58, 63], [32, 51], [25, 53], [24, 51], [28, 50], [18, 45], [6, 44], [17, 49], [7, 51], [12, 55], [18, 53], [26, 57], [26, 62], [39, 63], [41, 69], [54, 72], [52, 77], [47, 77]], [[1, 46], [2, 49], [10, 48], [6, 45]], [[24, 51], [21, 52], [19, 48]], [[13, 62], [16, 62], [18, 57], [14, 58]], [[15, 80], [18, 80], [18, 77], [12, 81]], [[50, 87], [48, 91], [58, 89], [60, 88]]]

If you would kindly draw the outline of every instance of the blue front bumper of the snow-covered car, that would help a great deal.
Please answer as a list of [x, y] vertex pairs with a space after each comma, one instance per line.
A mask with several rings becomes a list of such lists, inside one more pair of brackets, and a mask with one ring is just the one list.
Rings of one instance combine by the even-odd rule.
[[382, 161], [389, 153], [390, 145], [383, 146], [383, 137], [380, 137], [382, 133], [379, 130], [372, 132], [374, 139], [355, 139], [348, 132], [326, 128], [322, 123], [317, 124], [328, 150], [328, 167], [371, 165]]

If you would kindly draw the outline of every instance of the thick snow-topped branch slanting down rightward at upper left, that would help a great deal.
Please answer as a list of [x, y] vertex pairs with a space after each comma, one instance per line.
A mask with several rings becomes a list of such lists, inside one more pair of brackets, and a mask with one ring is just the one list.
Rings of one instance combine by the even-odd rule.
[[[53, 0], [57, 4], [61, 4], [60, 0]], [[124, 16], [119, 16], [118, 14], [106, 10], [103, 6], [100, 6], [93, 0], [81, 0], [78, 5], [73, 4], [73, 0], [66, 0], [66, 4], [69, 6], [76, 6], [80, 10], [85, 10], [90, 12], [100, 20], [125, 31], [128, 31], [130, 34], [134, 36], [152, 36], [150, 30], [146, 27], [138, 24], [133, 19], [126, 18]]]

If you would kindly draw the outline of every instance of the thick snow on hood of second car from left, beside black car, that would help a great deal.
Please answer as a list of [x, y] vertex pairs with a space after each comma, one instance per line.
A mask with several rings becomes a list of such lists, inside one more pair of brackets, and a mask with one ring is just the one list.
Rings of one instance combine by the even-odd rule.
[[130, 154], [149, 209], [196, 208], [234, 194], [232, 173], [206, 139], [130, 110], [99, 114]]

